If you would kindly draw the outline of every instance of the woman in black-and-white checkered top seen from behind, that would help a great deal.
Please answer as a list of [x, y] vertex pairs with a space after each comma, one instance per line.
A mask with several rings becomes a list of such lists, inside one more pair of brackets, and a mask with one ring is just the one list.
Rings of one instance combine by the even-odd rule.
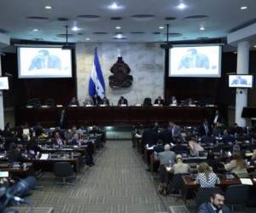
[[196, 176], [195, 182], [200, 187], [215, 187], [216, 184], [219, 184], [219, 179], [207, 163], [201, 163], [198, 166], [198, 176]]

